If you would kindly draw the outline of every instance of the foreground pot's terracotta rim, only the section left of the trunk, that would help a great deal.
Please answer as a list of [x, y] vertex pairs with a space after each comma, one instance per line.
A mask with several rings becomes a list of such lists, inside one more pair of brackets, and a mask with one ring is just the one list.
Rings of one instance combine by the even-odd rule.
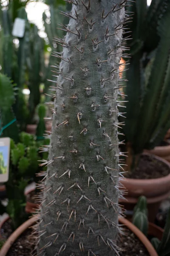
[[6, 240], [5, 244], [0, 250], [0, 256], [6, 256], [8, 253], [8, 250], [10, 249], [11, 245], [16, 241], [16, 239], [28, 228], [31, 227], [32, 224], [37, 220], [37, 217], [34, 216], [28, 221], [24, 222], [20, 227], [18, 227], [14, 233], [11, 234], [11, 236]]

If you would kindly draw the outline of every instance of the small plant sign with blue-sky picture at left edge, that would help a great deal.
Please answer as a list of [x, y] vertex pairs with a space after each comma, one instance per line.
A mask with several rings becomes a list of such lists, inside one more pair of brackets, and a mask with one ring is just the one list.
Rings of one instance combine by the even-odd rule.
[[0, 138], [0, 183], [9, 178], [10, 138]]

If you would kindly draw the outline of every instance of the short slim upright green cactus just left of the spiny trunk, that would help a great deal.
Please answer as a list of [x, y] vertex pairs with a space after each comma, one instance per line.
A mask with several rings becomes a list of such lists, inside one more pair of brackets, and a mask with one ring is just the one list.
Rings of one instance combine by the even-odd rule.
[[46, 113], [46, 108], [44, 104], [39, 104], [37, 106], [37, 111], [38, 111], [38, 116], [39, 116], [39, 121], [37, 124], [37, 130], [36, 130], [36, 136], [37, 140], [42, 140], [44, 139], [43, 134], [45, 133], [45, 113]]

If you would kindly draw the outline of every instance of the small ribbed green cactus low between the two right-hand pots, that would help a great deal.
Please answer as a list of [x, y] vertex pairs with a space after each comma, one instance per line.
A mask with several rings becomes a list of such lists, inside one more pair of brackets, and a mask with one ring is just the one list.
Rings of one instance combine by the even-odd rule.
[[133, 224], [139, 228], [139, 230], [147, 235], [148, 220], [147, 220], [147, 200], [144, 196], [139, 197], [138, 203], [133, 210]]

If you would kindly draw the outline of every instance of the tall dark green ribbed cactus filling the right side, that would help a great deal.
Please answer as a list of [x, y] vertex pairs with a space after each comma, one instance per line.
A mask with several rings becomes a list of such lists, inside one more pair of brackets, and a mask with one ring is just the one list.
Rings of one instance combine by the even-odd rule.
[[125, 35], [130, 47], [125, 54], [130, 52], [131, 58], [129, 69], [124, 70], [128, 102], [123, 100], [122, 106], [126, 107], [127, 142], [123, 151], [129, 152], [128, 169], [133, 170], [140, 153], [159, 145], [170, 127], [170, 1], [152, 0], [148, 7], [146, 0], [139, 0], [130, 5], [127, 10], [134, 12], [134, 22], [129, 20], [127, 27], [133, 40]]

